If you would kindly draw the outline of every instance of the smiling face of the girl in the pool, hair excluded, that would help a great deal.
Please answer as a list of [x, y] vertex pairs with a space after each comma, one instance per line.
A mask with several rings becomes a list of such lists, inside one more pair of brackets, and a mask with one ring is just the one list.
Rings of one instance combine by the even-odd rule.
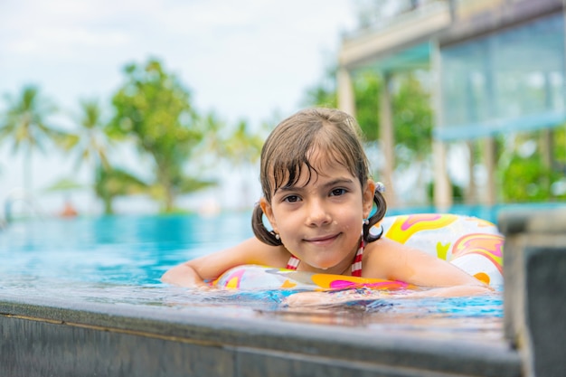
[[[373, 181], [362, 187], [344, 165], [303, 166], [297, 184], [279, 187], [261, 208], [283, 245], [301, 260], [299, 269], [343, 274], [354, 260], [363, 219], [373, 206]], [[307, 266], [304, 266], [307, 264]]]

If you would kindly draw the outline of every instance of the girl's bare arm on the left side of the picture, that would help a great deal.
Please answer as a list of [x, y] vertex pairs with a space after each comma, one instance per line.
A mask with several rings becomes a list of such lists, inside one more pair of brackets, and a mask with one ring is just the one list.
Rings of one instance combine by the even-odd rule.
[[269, 246], [250, 238], [232, 248], [175, 266], [165, 272], [161, 281], [181, 287], [207, 287], [204, 280], [218, 278], [232, 267], [244, 264], [279, 267], [284, 263], [286, 253], [282, 247]]

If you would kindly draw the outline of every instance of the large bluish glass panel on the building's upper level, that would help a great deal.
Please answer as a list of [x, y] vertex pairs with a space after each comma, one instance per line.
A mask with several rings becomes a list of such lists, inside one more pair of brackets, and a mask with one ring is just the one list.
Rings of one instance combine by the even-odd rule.
[[441, 139], [554, 127], [564, 115], [564, 19], [554, 14], [440, 50]]

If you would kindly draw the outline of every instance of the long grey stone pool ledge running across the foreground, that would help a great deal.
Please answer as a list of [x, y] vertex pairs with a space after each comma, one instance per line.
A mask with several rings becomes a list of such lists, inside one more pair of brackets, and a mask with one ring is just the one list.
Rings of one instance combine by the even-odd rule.
[[505, 341], [0, 293], [5, 376], [519, 376]]

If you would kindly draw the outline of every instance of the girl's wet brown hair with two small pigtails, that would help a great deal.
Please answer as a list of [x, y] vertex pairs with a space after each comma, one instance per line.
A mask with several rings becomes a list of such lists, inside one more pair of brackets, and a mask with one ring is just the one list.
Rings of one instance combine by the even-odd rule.
[[[354, 117], [334, 108], [307, 108], [283, 120], [271, 132], [261, 149], [259, 180], [263, 196], [271, 203], [274, 193], [281, 187], [297, 184], [302, 169], [307, 166], [308, 179], [316, 166], [309, 157], [323, 154], [327, 160], [344, 165], [358, 177], [362, 188], [369, 178], [369, 162], [363, 151], [361, 131]], [[324, 161], [323, 158], [318, 158]], [[373, 193], [376, 209], [363, 224], [363, 240], [373, 242], [382, 233], [372, 234], [370, 229], [382, 221], [387, 211], [387, 203], [381, 191]], [[360, 219], [362, 221], [362, 219]], [[263, 223], [263, 211], [256, 204], [251, 218], [255, 236], [271, 246], [282, 245], [273, 231], [268, 231]]]

